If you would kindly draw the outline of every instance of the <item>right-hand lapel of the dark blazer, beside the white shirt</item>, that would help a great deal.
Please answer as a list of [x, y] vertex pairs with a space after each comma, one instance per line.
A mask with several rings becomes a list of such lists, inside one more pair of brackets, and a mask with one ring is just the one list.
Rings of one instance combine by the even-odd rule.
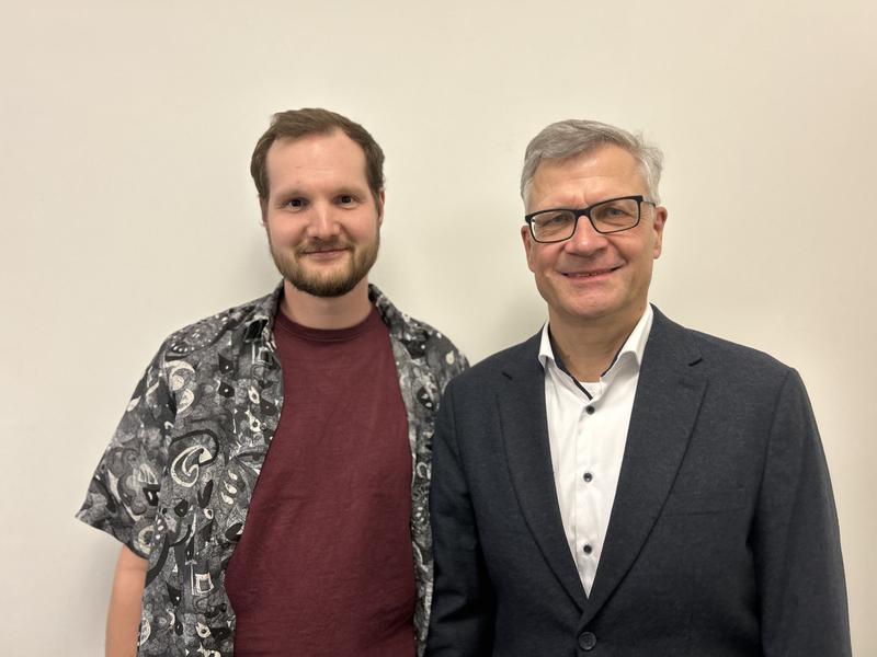
[[670, 493], [701, 408], [706, 380], [687, 331], [654, 309], [642, 358], [606, 542], [582, 622], [589, 622], [634, 564]]

